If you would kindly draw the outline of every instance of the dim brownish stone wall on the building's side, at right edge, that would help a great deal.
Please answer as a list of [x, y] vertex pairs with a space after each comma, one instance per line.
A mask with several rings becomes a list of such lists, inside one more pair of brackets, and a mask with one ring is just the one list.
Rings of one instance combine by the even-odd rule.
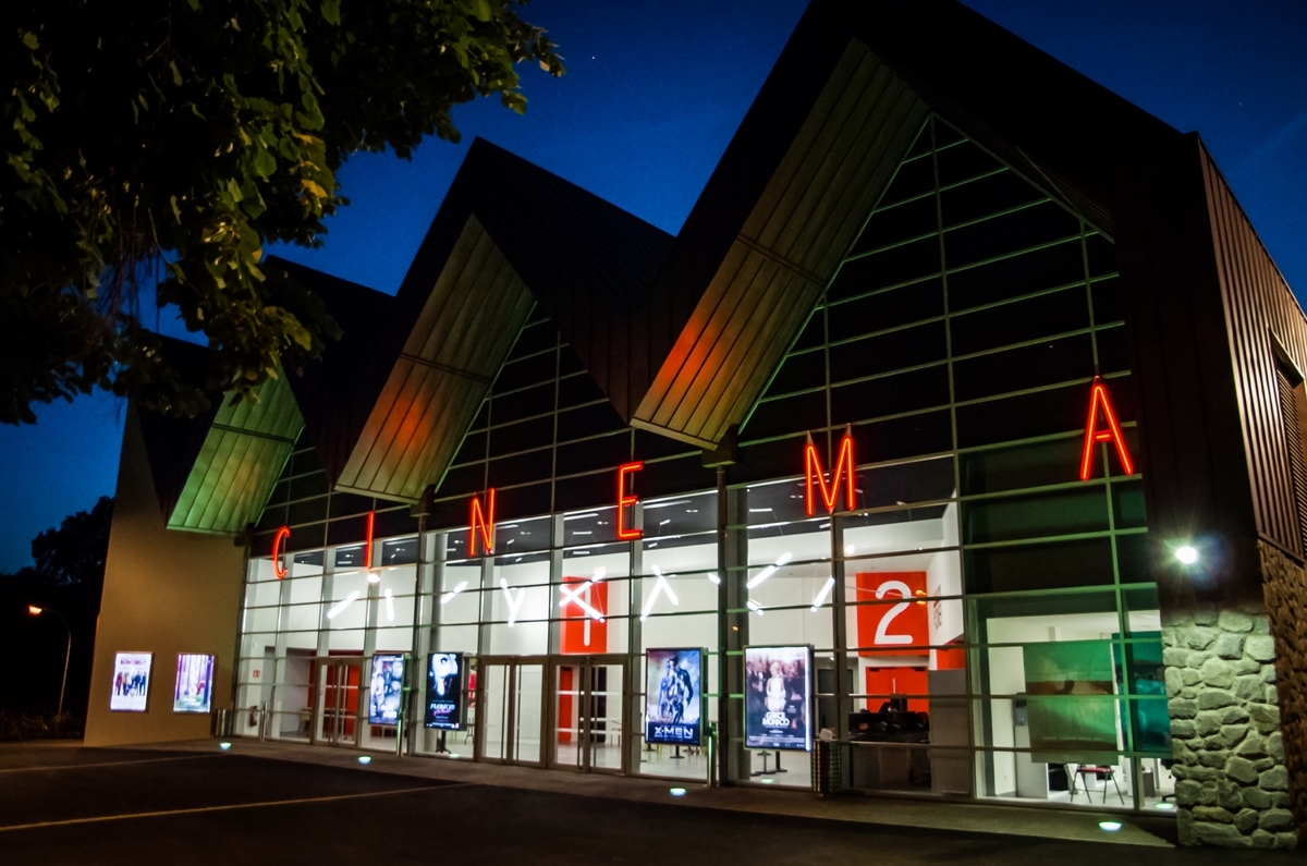
[[1289, 768], [1289, 795], [1299, 835], [1307, 832], [1307, 569], [1265, 542], [1263, 590], [1276, 638], [1280, 733]]

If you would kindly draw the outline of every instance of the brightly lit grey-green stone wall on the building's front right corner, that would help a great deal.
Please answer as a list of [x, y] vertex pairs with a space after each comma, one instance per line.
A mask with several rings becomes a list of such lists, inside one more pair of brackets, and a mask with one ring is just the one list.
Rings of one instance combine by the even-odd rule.
[[1180, 844], [1294, 848], [1265, 611], [1165, 612], [1162, 645]]

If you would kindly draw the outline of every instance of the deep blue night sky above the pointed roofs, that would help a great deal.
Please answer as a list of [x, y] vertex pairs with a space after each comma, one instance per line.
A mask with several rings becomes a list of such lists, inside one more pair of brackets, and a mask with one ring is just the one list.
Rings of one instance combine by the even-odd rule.
[[[473, 136], [677, 232], [802, 13], [805, 0], [536, 0], [569, 72], [524, 75], [525, 116], [455, 110], [460, 145], [412, 162], [353, 160], [353, 204], [322, 250], [280, 251], [393, 293]], [[1307, 292], [1307, 4], [1302, 0], [967, 0], [1055, 58], [1166, 120], [1197, 130], [1270, 255]], [[345, 323], [348, 326], [348, 323]], [[167, 330], [167, 328], [165, 328]], [[0, 570], [29, 543], [112, 493], [124, 406], [81, 398], [0, 428]]]

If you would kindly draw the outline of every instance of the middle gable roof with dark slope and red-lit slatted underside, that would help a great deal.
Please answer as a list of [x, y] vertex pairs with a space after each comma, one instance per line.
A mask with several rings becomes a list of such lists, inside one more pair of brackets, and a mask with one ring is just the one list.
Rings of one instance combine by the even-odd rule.
[[609, 349], [593, 335], [642, 305], [669, 245], [621, 208], [474, 141], [404, 277], [392, 327], [378, 334], [371, 373], [386, 379], [333, 475], [337, 489], [417, 501], [454, 459], [536, 303], [601, 368]]

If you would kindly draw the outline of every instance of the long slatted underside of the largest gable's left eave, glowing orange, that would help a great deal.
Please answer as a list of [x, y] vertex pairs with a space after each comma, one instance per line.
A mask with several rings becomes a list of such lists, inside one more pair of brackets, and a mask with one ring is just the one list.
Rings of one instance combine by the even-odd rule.
[[[928, 111], [865, 47], [847, 46], [660, 365], [634, 425], [710, 447], [738, 424]], [[748, 140], [737, 137], [732, 149], [741, 144]], [[728, 152], [723, 162], [735, 156]]]

